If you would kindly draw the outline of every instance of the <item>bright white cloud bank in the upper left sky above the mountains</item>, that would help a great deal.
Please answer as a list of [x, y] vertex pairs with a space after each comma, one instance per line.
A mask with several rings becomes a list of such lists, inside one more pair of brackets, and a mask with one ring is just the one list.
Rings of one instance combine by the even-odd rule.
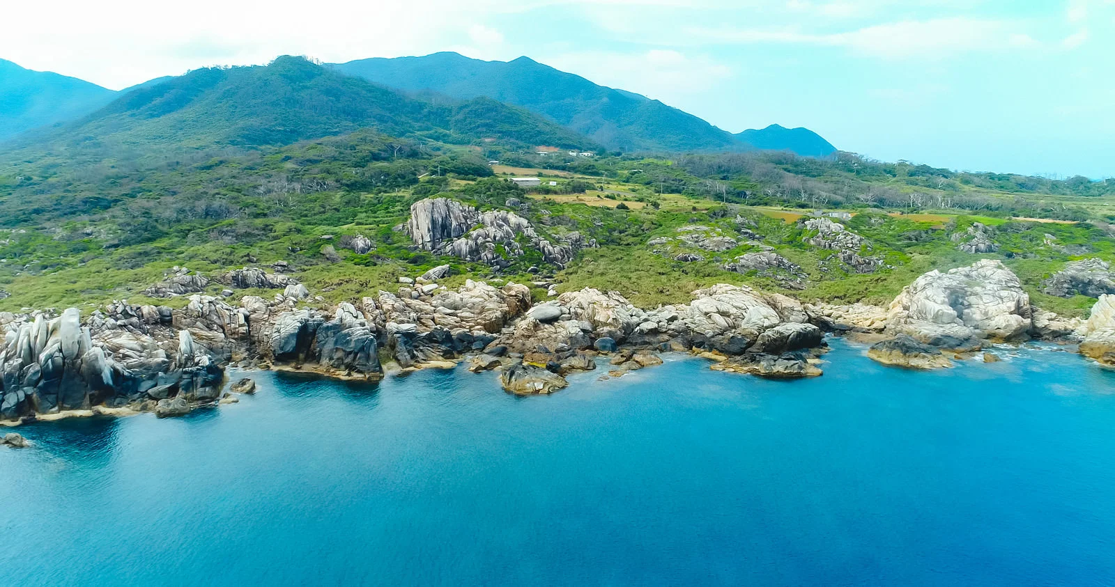
[[264, 63], [283, 53], [342, 61], [432, 52], [467, 41], [474, 32], [484, 36], [473, 27], [506, 6], [496, 0], [195, 0], [183, 10], [147, 0], [8, 2], [4, 22], [49, 26], [4, 27], [0, 56], [120, 88], [207, 65]]

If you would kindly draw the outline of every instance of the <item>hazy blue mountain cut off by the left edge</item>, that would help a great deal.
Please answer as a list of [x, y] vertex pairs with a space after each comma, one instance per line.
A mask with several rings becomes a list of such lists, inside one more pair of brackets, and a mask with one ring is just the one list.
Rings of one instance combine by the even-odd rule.
[[96, 84], [0, 59], [0, 140], [87, 115], [115, 96]]

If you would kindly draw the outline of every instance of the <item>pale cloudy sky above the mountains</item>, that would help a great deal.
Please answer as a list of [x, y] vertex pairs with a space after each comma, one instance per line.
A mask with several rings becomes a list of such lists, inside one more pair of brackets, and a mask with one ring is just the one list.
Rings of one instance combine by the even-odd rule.
[[[1115, 0], [13, 0], [0, 58], [120, 89], [279, 55], [520, 56], [738, 133], [1115, 176]], [[35, 23], [35, 25], [29, 25]]]

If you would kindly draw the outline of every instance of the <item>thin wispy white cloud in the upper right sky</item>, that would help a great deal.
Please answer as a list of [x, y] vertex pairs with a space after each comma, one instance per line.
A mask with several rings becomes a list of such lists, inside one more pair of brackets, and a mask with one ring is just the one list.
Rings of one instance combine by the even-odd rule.
[[940, 59], [977, 50], [1001, 50], [1037, 45], [1029, 35], [999, 20], [943, 18], [874, 25], [849, 32], [809, 33], [798, 30], [690, 29], [698, 37], [730, 43], [799, 43], [844, 47], [884, 59]]

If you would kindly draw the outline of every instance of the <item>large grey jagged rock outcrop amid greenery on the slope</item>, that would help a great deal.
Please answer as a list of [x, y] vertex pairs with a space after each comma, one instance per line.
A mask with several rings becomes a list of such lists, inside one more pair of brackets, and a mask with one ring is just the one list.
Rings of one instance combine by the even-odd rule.
[[523, 255], [520, 237], [560, 267], [572, 261], [578, 251], [594, 247], [594, 241], [580, 233], [561, 236], [551, 243], [526, 218], [506, 211], [478, 212], [449, 198], [432, 198], [410, 206], [406, 231], [419, 248], [465, 261], [507, 266], [511, 257]]

